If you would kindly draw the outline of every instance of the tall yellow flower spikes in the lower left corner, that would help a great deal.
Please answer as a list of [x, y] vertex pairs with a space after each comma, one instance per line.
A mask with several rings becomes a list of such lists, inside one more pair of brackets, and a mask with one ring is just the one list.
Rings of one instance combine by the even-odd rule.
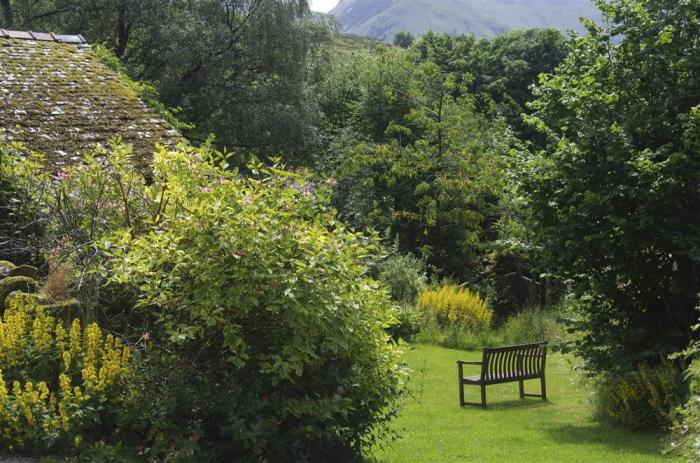
[[42, 453], [109, 438], [130, 400], [129, 350], [96, 324], [69, 328], [33, 296], [0, 321], [0, 447]]

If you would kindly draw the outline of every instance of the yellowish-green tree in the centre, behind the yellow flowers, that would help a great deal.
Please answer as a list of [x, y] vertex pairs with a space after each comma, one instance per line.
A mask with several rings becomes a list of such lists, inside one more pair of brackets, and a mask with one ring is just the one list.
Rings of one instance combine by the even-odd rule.
[[[387, 70], [404, 68], [403, 57], [382, 59], [399, 60]], [[410, 109], [398, 118], [385, 113], [388, 119], [366, 132], [377, 137], [374, 130], [383, 130], [385, 142], [346, 149], [335, 202], [353, 225], [388, 230], [401, 252], [444, 275], [473, 278], [482, 270], [483, 238], [497, 214], [501, 166], [513, 139], [499, 121], [475, 111], [473, 98], [453, 96], [453, 77], [436, 65], [415, 66], [408, 76], [402, 81], [408, 100], [404, 90], [382, 92], [410, 102]]]

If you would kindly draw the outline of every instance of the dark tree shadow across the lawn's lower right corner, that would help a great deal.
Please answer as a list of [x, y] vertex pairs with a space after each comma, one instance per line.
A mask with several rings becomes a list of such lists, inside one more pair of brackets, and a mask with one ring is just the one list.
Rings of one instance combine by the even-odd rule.
[[652, 432], [631, 432], [606, 423], [585, 425], [564, 424], [544, 429], [560, 444], [594, 444], [611, 450], [644, 455], [659, 455], [662, 435]]

